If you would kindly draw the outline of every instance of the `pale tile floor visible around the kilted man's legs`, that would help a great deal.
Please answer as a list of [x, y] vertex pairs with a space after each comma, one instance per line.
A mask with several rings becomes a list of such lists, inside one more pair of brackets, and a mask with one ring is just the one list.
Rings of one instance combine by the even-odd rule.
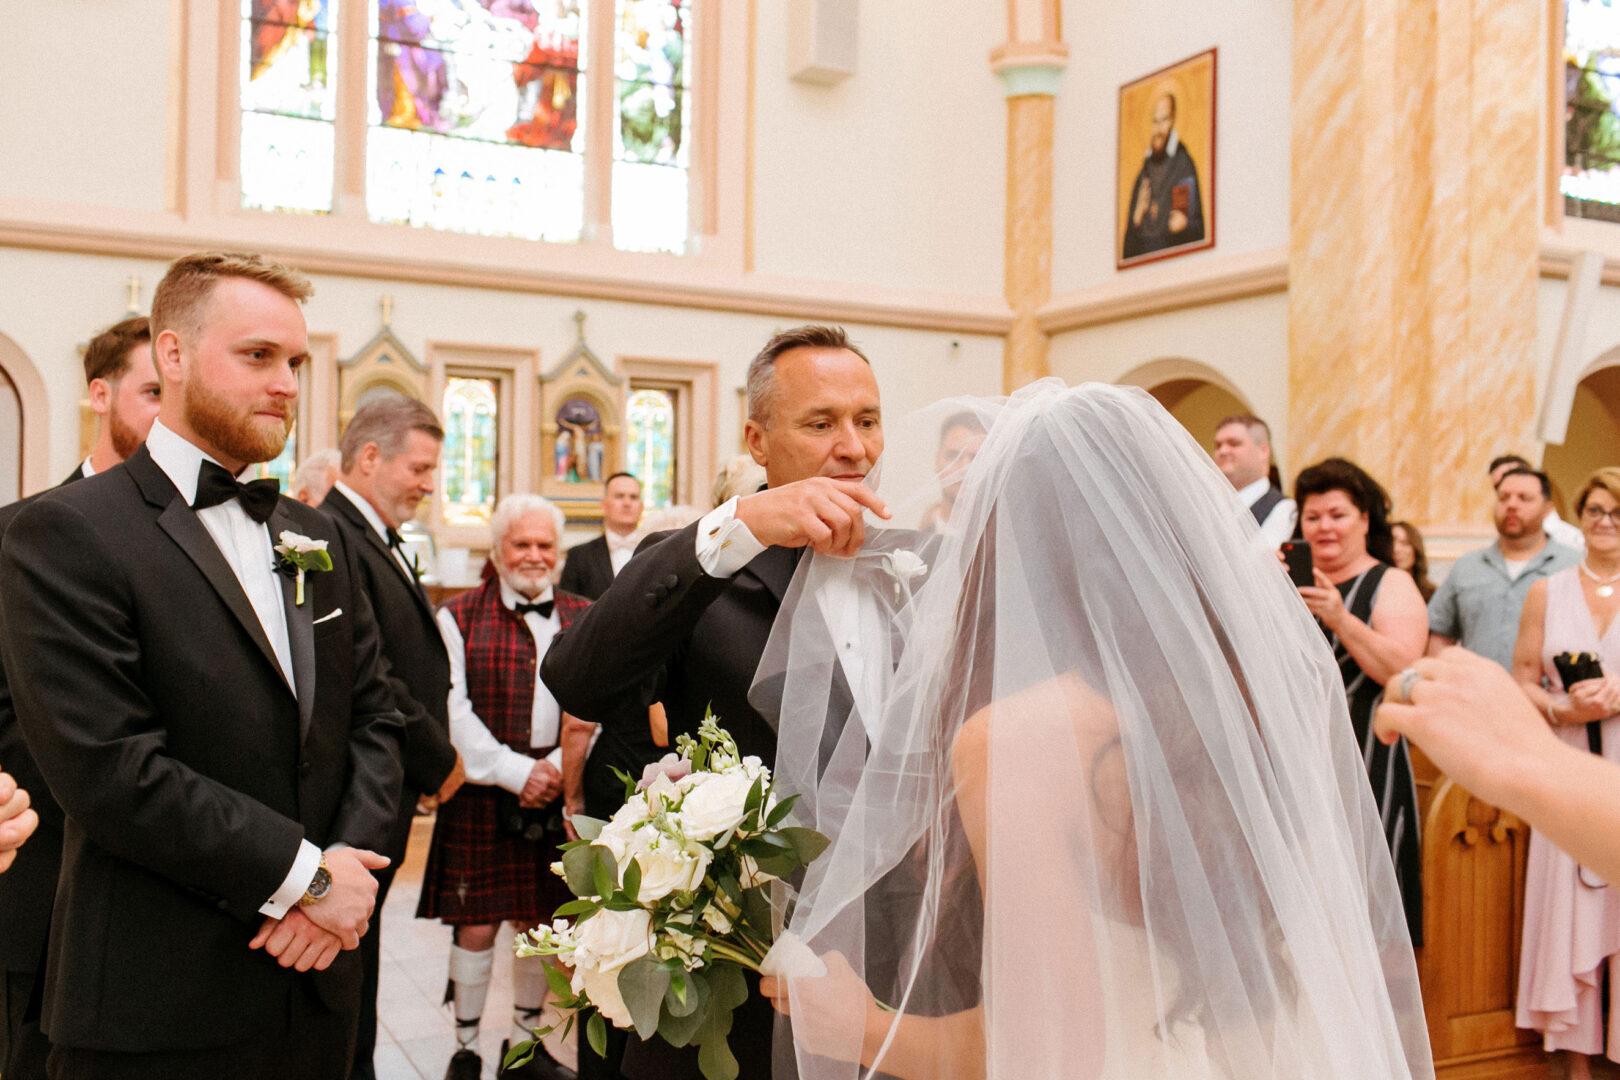
[[[377, 986], [377, 1080], [439, 1080], [455, 1052], [455, 1022], [444, 1001], [450, 963], [450, 928], [416, 918], [421, 868], [428, 858], [433, 819], [418, 818], [410, 850], [382, 908], [382, 976]], [[510, 929], [502, 931], [509, 939]], [[512, 1031], [512, 957], [496, 946], [496, 970], [484, 1004], [480, 1052], [484, 1077], [494, 1080], [501, 1064], [501, 1040]], [[554, 1017], [546, 1015], [546, 1023]], [[557, 1061], [573, 1064], [573, 1035], [567, 1044], [548, 1044]]]

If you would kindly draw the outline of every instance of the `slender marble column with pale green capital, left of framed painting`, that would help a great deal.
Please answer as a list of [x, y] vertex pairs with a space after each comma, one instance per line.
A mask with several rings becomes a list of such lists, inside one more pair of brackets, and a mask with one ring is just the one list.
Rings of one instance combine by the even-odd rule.
[[[1011, 26], [1017, 34], [1019, 8]], [[1053, 5], [1055, 10], [1055, 5]], [[1038, 15], [1038, 11], [1037, 11]], [[1013, 330], [1001, 356], [1001, 389], [1051, 374], [1048, 337], [1035, 314], [1051, 298], [1051, 141], [1059, 76], [1069, 50], [1055, 16], [1029, 19], [1035, 40], [1011, 40], [990, 55], [1008, 99], [1006, 269], [1003, 288]]]

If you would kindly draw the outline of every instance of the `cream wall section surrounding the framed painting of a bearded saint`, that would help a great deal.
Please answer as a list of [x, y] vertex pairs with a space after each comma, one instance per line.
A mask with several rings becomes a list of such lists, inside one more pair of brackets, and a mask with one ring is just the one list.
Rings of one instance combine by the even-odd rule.
[[[1144, 288], [1174, 264], [1288, 244], [1293, 5], [1170, 0], [1145, 10], [1068, 0], [1071, 60], [1058, 94], [1053, 167], [1053, 291], [1115, 279]], [[1217, 47], [1215, 246], [1115, 270], [1119, 86]], [[1197, 162], [1207, 175], [1209, 162]]]

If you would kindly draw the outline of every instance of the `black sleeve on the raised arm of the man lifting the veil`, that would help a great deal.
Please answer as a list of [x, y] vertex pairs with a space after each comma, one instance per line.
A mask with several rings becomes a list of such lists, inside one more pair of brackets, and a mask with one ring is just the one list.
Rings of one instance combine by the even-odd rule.
[[648, 538], [612, 586], [551, 640], [539, 677], [565, 712], [606, 722], [658, 698], [669, 661], [731, 585], [698, 565], [698, 525]]

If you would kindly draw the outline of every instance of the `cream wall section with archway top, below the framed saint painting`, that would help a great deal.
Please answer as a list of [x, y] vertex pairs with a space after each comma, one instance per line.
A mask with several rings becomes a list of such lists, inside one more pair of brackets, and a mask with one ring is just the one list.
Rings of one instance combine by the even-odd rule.
[[[1270, 424], [1285, 474], [1307, 465], [1288, 457], [1288, 293], [1058, 334], [1051, 338], [1051, 371], [1069, 384], [1144, 387], [1213, 372]], [[1215, 437], [1192, 434], [1205, 445]]]

